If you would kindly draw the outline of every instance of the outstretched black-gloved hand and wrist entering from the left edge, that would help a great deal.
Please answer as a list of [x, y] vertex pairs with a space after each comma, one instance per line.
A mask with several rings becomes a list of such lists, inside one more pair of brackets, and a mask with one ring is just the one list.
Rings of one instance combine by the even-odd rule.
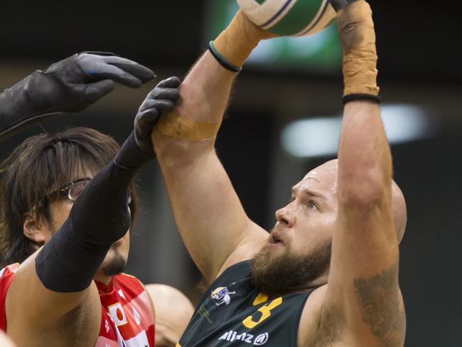
[[62, 112], [78, 112], [114, 89], [153, 80], [149, 68], [112, 53], [78, 53], [0, 94], [0, 141]]

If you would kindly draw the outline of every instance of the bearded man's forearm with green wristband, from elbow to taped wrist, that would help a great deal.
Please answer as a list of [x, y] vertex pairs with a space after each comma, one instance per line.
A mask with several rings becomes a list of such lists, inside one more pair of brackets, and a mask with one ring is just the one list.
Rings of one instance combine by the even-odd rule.
[[[162, 117], [156, 129], [168, 137], [190, 142], [213, 139], [220, 127], [236, 73], [259, 41], [272, 36], [238, 11], [230, 25], [210, 42], [209, 50], [190, 70], [181, 85], [178, 107], [168, 117]], [[159, 145], [159, 141], [154, 142]]]

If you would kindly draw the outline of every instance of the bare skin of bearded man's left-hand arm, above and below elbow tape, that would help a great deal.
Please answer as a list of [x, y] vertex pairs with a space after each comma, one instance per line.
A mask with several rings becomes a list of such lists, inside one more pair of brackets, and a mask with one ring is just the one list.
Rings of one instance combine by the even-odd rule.
[[[206, 52], [181, 85], [176, 112], [220, 123], [235, 75]], [[226, 267], [249, 257], [267, 235], [245, 214], [215, 153], [215, 137], [192, 142], [156, 130], [154, 146], [178, 230], [205, 277], [214, 279], [227, 260]]]

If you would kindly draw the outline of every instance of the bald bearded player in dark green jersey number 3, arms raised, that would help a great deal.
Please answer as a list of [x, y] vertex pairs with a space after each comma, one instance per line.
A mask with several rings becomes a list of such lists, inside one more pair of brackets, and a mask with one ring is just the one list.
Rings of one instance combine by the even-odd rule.
[[338, 161], [310, 171], [270, 233], [249, 220], [215, 153], [232, 82], [271, 35], [241, 12], [153, 133], [178, 229], [210, 289], [177, 346], [402, 346], [404, 198], [380, 119], [372, 11], [338, 14], [345, 109]]

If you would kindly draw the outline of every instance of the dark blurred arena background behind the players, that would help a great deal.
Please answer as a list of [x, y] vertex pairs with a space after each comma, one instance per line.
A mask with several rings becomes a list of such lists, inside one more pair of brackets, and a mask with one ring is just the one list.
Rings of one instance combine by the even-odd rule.
[[[230, 11], [231, 2], [4, 1], [0, 85], [9, 87], [33, 70], [82, 50], [112, 51], [148, 65], [159, 78], [183, 76], [215, 35], [220, 26], [215, 19], [226, 18], [224, 11]], [[460, 347], [461, 2], [370, 0], [370, 4], [384, 119], [385, 109], [392, 119], [387, 132], [390, 137], [401, 134], [390, 141], [395, 180], [407, 198], [409, 213], [400, 246], [406, 346]], [[323, 65], [326, 55], [338, 54], [332, 45], [315, 57], [317, 63], [307, 59], [308, 66], [291, 56], [274, 64], [271, 57], [256, 58], [246, 65], [235, 87], [217, 150], [250, 218], [265, 228], [274, 225], [274, 211], [288, 201], [291, 185], [335, 156], [321, 141], [331, 139], [335, 144], [335, 116], [342, 110], [339, 60], [334, 57]], [[82, 114], [48, 120], [2, 142], [0, 156], [3, 159], [32, 134], [77, 125], [123, 142], [138, 105], [154, 84], [141, 90], [117, 87]], [[322, 130], [321, 139], [308, 133], [306, 138], [326, 149], [316, 152], [306, 144], [301, 152], [295, 151], [291, 139], [298, 137], [292, 131], [304, 129], [302, 123], [318, 129], [320, 119], [333, 122], [315, 130], [317, 134]], [[129, 272], [145, 283], [171, 284], [197, 301], [200, 274], [178, 237], [156, 163], [141, 171], [139, 188], [141, 215], [131, 238]]]

